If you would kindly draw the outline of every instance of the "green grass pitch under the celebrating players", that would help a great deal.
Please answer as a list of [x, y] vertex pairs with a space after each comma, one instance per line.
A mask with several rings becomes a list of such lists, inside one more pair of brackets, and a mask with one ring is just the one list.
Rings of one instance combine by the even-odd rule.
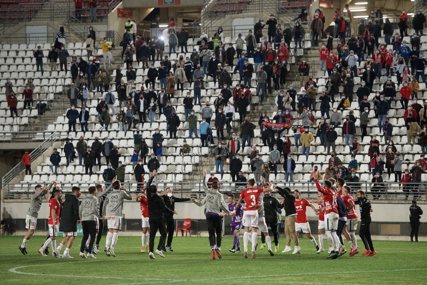
[[[37, 253], [44, 237], [32, 237], [29, 254], [23, 256], [18, 250], [22, 236], [1, 236], [1, 284], [426, 284], [427, 280], [425, 242], [374, 241], [376, 256], [347, 253], [327, 260], [327, 253], [316, 254], [313, 244], [303, 238], [301, 254], [279, 251], [271, 257], [264, 248], [253, 260], [244, 259], [243, 253], [229, 253], [233, 240], [227, 237], [222, 239], [222, 259], [213, 261], [208, 238], [174, 237], [173, 253], [150, 260], [148, 253], [140, 253], [140, 237], [119, 236], [116, 258], [102, 251], [92, 260], [79, 257], [80, 239], [70, 250], [73, 259], [55, 259]], [[243, 238], [240, 242], [243, 246]], [[104, 247], [104, 237], [100, 245]], [[358, 245], [363, 249], [360, 240]]]

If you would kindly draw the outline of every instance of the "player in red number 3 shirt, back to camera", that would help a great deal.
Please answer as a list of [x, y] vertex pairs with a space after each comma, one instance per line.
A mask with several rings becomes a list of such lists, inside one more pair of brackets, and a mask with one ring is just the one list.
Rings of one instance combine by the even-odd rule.
[[[255, 179], [251, 178], [248, 181], [249, 188], [240, 192], [240, 198], [234, 206], [234, 213], [239, 207], [242, 199], [245, 199], [245, 212], [243, 212], [243, 226], [245, 227], [245, 233], [243, 234], [243, 256], [248, 258], [248, 241], [249, 235], [251, 235], [252, 241], [252, 258], [255, 258], [255, 246], [257, 244], [257, 229], [258, 229], [258, 207], [259, 197], [261, 192], [268, 192], [272, 190], [272, 184], [268, 188], [254, 187]], [[249, 228], [252, 226], [252, 234], [249, 232]]]

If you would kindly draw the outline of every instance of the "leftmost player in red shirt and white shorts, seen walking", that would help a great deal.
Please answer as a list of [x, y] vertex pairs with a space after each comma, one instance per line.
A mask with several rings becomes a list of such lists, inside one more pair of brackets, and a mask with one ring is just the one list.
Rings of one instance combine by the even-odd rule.
[[38, 253], [42, 256], [46, 256], [44, 250], [52, 243], [53, 254], [56, 258], [59, 258], [59, 255], [56, 253], [56, 237], [58, 236], [59, 229], [59, 212], [61, 212], [61, 203], [59, 203], [59, 199], [62, 197], [62, 191], [61, 189], [55, 189], [52, 194], [53, 198], [49, 199], [49, 219], [47, 220], [50, 238], [44, 242], [41, 249], [38, 250]]

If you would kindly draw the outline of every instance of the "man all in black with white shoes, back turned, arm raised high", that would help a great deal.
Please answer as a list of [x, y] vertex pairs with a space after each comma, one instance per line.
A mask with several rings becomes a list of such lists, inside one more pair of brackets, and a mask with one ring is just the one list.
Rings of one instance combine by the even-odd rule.
[[[160, 240], [159, 244], [157, 246], [157, 250], [155, 253], [157, 253], [159, 256], [164, 257], [164, 254], [161, 252], [162, 247], [166, 241], [166, 223], [164, 220], [164, 213], [167, 212], [168, 214], [178, 214], [178, 212], [172, 211], [169, 209], [166, 204], [164, 203], [164, 199], [160, 197], [160, 195], [157, 192], [157, 186], [151, 185], [151, 182], [153, 181], [153, 178], [157, 175], [157, 171], [154, 170], [152, 172], [152, 176], [147, 182], [147, 203], [148, 203], [148, 214], [149, 214], [149, 225], [150, 225], [150, 259], [155, 259], [153, 250], [154, 250], [154, 239], [156, 237], [157, 231], [160, 231]], [[163, 195], [166, 194], [166, 191], [162, 193]]]

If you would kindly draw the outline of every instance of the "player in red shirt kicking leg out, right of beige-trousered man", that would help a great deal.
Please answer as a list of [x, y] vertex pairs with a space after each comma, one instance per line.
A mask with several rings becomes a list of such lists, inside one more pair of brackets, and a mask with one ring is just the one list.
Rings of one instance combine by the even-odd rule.
[[295, 233], [298, 237], [299, 232], [302, 230], [307, 238], [310, 238], [310, 241], [316, 247], [316, 250], [319, 250], [316, 239], [311, 235], [310, 224], [308, 223], [307, 214], [305, 212], [306, 207], [311, 207], [316, 212], [316, 207], [313, 206], [307, 199], [301, 198], [301, 191], [299, 189], [294, 190], [295, 196], [295, 210], [296, 210], [296, 220], [295, 220]]

